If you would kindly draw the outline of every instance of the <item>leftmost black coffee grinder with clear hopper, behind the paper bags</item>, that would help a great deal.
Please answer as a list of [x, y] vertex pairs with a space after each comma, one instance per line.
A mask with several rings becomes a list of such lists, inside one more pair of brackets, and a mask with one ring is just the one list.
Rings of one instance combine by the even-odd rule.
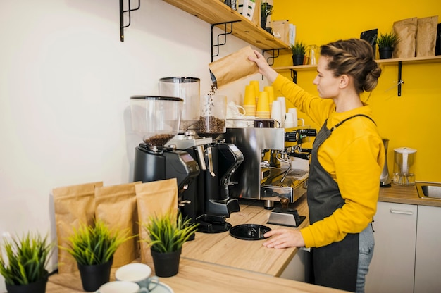
[[170, 96], [130, 97], [133, 130], [142, 136], [135, 149], [134, 181], [151, 182], [176, 178], [180, 206], [182, 192], [199, 175], [199, 166], [185, 151], [165, 146], [178, 134], [182, 99]]

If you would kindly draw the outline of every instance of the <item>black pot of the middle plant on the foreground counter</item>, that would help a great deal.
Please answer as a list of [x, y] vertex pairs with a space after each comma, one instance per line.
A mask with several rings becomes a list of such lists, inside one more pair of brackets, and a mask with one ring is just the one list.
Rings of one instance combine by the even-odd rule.
[[82, 289], [87, 292], [94, 292], [101, 285], [107, 283], [110, 280], [112, 263], [113, 258], [99, 265], [80, 265], [80, 263], [77, 263], [78, 270], [80, 270]]

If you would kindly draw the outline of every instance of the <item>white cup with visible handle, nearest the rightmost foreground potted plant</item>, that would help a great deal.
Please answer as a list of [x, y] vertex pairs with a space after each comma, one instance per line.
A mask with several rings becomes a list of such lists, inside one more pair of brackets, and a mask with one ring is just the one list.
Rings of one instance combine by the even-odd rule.
[[153, 290], [159, 283], [158, 277], [150, 276], [151, 268], [144, 263], [129, 263], [118, 268], [115, 278], [118, 281], [135, 282], [146, 292]]

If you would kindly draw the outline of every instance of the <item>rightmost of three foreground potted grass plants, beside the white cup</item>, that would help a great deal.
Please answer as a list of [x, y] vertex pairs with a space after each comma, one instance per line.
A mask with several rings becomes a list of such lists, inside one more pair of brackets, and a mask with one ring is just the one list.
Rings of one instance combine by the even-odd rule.
[[142, 223], [149, 235], [142, 241], [149, 244], [158, 277], [171, 277], [178, 273], [182, 245], [194, 235], [198, 225], [190, 218], [182, 218], [179, 211], [151, 215], [147, 223]]

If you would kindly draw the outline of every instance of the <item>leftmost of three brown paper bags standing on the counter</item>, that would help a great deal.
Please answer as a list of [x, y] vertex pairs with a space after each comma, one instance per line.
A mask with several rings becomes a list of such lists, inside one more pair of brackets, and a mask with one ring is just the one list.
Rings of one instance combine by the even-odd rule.
[[[67, 238], [82, 224], [94, 225], [95, 187], [103, 182], [92, 182], [83, 185], [58, 187], [52, 190], [56, 221], [57, 244], [68, 247]], [[58, 249], [58, 273], [77, 271], [77, 262], [68, 251]]]

